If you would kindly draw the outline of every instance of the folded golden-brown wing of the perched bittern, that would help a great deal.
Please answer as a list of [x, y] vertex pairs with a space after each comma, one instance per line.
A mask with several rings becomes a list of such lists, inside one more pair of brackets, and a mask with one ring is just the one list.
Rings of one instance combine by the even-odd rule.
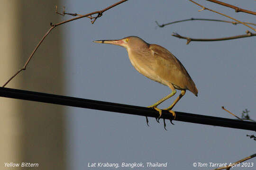
[[161, 79], [195, 95], [198, 93], [191, 76], [170, 51], [156, 44], [150, 44], [149, 49], [155, 57], [155, 72]]

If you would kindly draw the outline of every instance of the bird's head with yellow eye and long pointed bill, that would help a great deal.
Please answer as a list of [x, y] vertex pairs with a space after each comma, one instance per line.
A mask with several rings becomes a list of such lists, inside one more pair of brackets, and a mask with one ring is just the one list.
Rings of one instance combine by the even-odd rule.
[[137, 36], [128, 36], [120, 40], [98, 40], [94, 42], [119, 45], [126, 48], [127, 50], [135, 50], [138, 48], [145, 48], [149, 46], [148, 43], [146, 43], [144, 40]]

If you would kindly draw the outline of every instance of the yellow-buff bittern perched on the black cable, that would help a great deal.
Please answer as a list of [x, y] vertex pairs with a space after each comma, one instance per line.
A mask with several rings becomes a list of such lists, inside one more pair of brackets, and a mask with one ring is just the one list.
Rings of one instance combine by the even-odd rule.
[[[126, 48], [131, 64], [140, 74], [160, 84], [166, 85], [172, 90], [170, 94], [148, 106], [148, 108], [153, 108], [159, 112], [159, 117], [156, 118], [158, 123], [162, 115], [162, 109], [157, 108], [157, 106], [174, 96], [176, 89], [181, 90], [180, 95], [169, 107], [163, 109], [172, 113], [174, 119], [176, 118], [176, 114], [172, 109], [183, 95], [185, 95], [186, 90], [189, 90], [197, 96], [198, 90], [187, 70], [182, 63], [164, 47], [149, 44], [137, 36], [128, 36], [119, 40], [97, 40], [93, 42], [119, 45]], [[148, 125], [147, 117], [146, 123]], [[166, 126], [165, 119], [164, 126]]]

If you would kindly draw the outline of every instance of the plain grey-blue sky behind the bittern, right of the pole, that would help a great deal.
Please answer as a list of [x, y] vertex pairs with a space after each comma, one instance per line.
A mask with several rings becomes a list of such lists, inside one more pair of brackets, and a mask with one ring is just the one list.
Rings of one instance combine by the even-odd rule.
[[[118, 0], [63, 1], [67, 12], [86, 14]], [[256, 23], [255, 16], [198, 0], [202, 5], [236, 19]], [[254, 1], [225, 0], [240, 8], [256, 10]], [[62, 26], [65, 34], [66, 95], [86, 99], [149, 106], [171, 93], [164, 85], [140, 75], [131, 65], [127, 51], [119, 46], [96, 44], [93, 40], [120, 39], [135, 35], [148, 43], [171, 51], [187, 69], [198, 88], [198, 97], [187, 92], [174, 110], [195, 114], [233, 117], [225, 106], [240, 116], [250, 110], [256, 119], [256, 39], [242, 38], [221, 42], [190, 42], [171, 36], [173, 32], [192, 38], [220, 38], [245, 34], [246, 26], [218, 22], [188, 21], [159, 28], [159, 24], [188, 18], [224, 19], [190, 1], [128, 0], [103, 13], [91, 25], [82, 18]], [[70, 16], [63, 18], [68, 19]], [[252, 30], [249, 30], [253, 32]], [[177, 94], [161, 104], [169, 106]], [[255, 141], [246, 137], [252, 131], [163, 120], [158, 124], [145, 117], [68, 107], [67, 154], [70, 169], [89, 169], [94, 162], [167, 162], [163, 169], [198, 169], [194, 162], [230, 163], [255, 153]], [[255, 162], [255, 159], [247, 162]], [[94, 168], [105, 170], [106, 168]], [[130, 168], [121, 168], [121, 170]], [[254, 168], [243, 168], [253, 170]]]

